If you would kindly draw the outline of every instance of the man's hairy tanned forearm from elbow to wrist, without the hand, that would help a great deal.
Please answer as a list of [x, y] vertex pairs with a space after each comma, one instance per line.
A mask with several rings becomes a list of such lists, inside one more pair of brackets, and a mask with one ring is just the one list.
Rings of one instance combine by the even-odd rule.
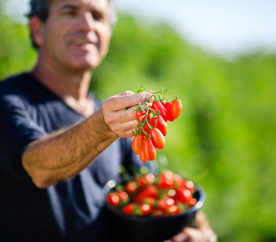
[[23, 166], [37, 187], [46, 188], [81, 172], [117, 138], [99, 109], [81, 123], [32, 142]]

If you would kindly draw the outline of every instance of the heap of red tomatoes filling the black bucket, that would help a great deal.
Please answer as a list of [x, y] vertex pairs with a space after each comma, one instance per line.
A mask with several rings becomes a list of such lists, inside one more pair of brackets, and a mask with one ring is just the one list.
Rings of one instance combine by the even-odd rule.
[[134, 216], [170, 216], [194, 206], [195, 185], [191, 180], [164, 170], [137, 175], [135, 179], [116, 185], [107, 195], [107, 202], [123, 213]]

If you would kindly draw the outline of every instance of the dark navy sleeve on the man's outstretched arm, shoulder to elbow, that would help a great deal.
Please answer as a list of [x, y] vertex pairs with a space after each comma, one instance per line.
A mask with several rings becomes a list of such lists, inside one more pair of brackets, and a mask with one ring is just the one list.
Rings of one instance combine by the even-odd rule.
[[0, 169], [23, 181], [30, 177], [22, 166], [26, 146], [46, 134], [34, 122], [24, 97], [7, 88], [0, 89]]

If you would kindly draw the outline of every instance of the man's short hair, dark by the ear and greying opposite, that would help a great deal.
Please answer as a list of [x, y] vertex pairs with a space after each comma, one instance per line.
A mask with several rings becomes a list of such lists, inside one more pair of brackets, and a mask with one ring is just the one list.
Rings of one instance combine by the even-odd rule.
[[[50, 4], [53, 0], [31, 0], [30, 1], [30, 11], [26, 15], [29, 19], [33, 16], [37, 16], [43, 23], [46, 22], [49, 15]], [[112, 28], [115, 26], [117, 21], [117, 15], [113, 5], [113, 0], [108, 0], [110, 4], [110, 24]], [[38, 48], [34, 42], [33, 35], [31, 33], [32, 44], [35, 48]]]

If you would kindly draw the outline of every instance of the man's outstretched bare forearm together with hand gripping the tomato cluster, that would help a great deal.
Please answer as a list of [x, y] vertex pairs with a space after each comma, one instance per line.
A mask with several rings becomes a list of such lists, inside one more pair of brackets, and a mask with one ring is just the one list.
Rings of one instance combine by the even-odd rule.
[[113, 96], [82, 122], [30, 143], [22, 163], [34, 184], [46, 188], [70, 178], [89, 166], [117, 138], [131, 137], [137, 125], [132, 106], [145, 102], [150, 95]]

